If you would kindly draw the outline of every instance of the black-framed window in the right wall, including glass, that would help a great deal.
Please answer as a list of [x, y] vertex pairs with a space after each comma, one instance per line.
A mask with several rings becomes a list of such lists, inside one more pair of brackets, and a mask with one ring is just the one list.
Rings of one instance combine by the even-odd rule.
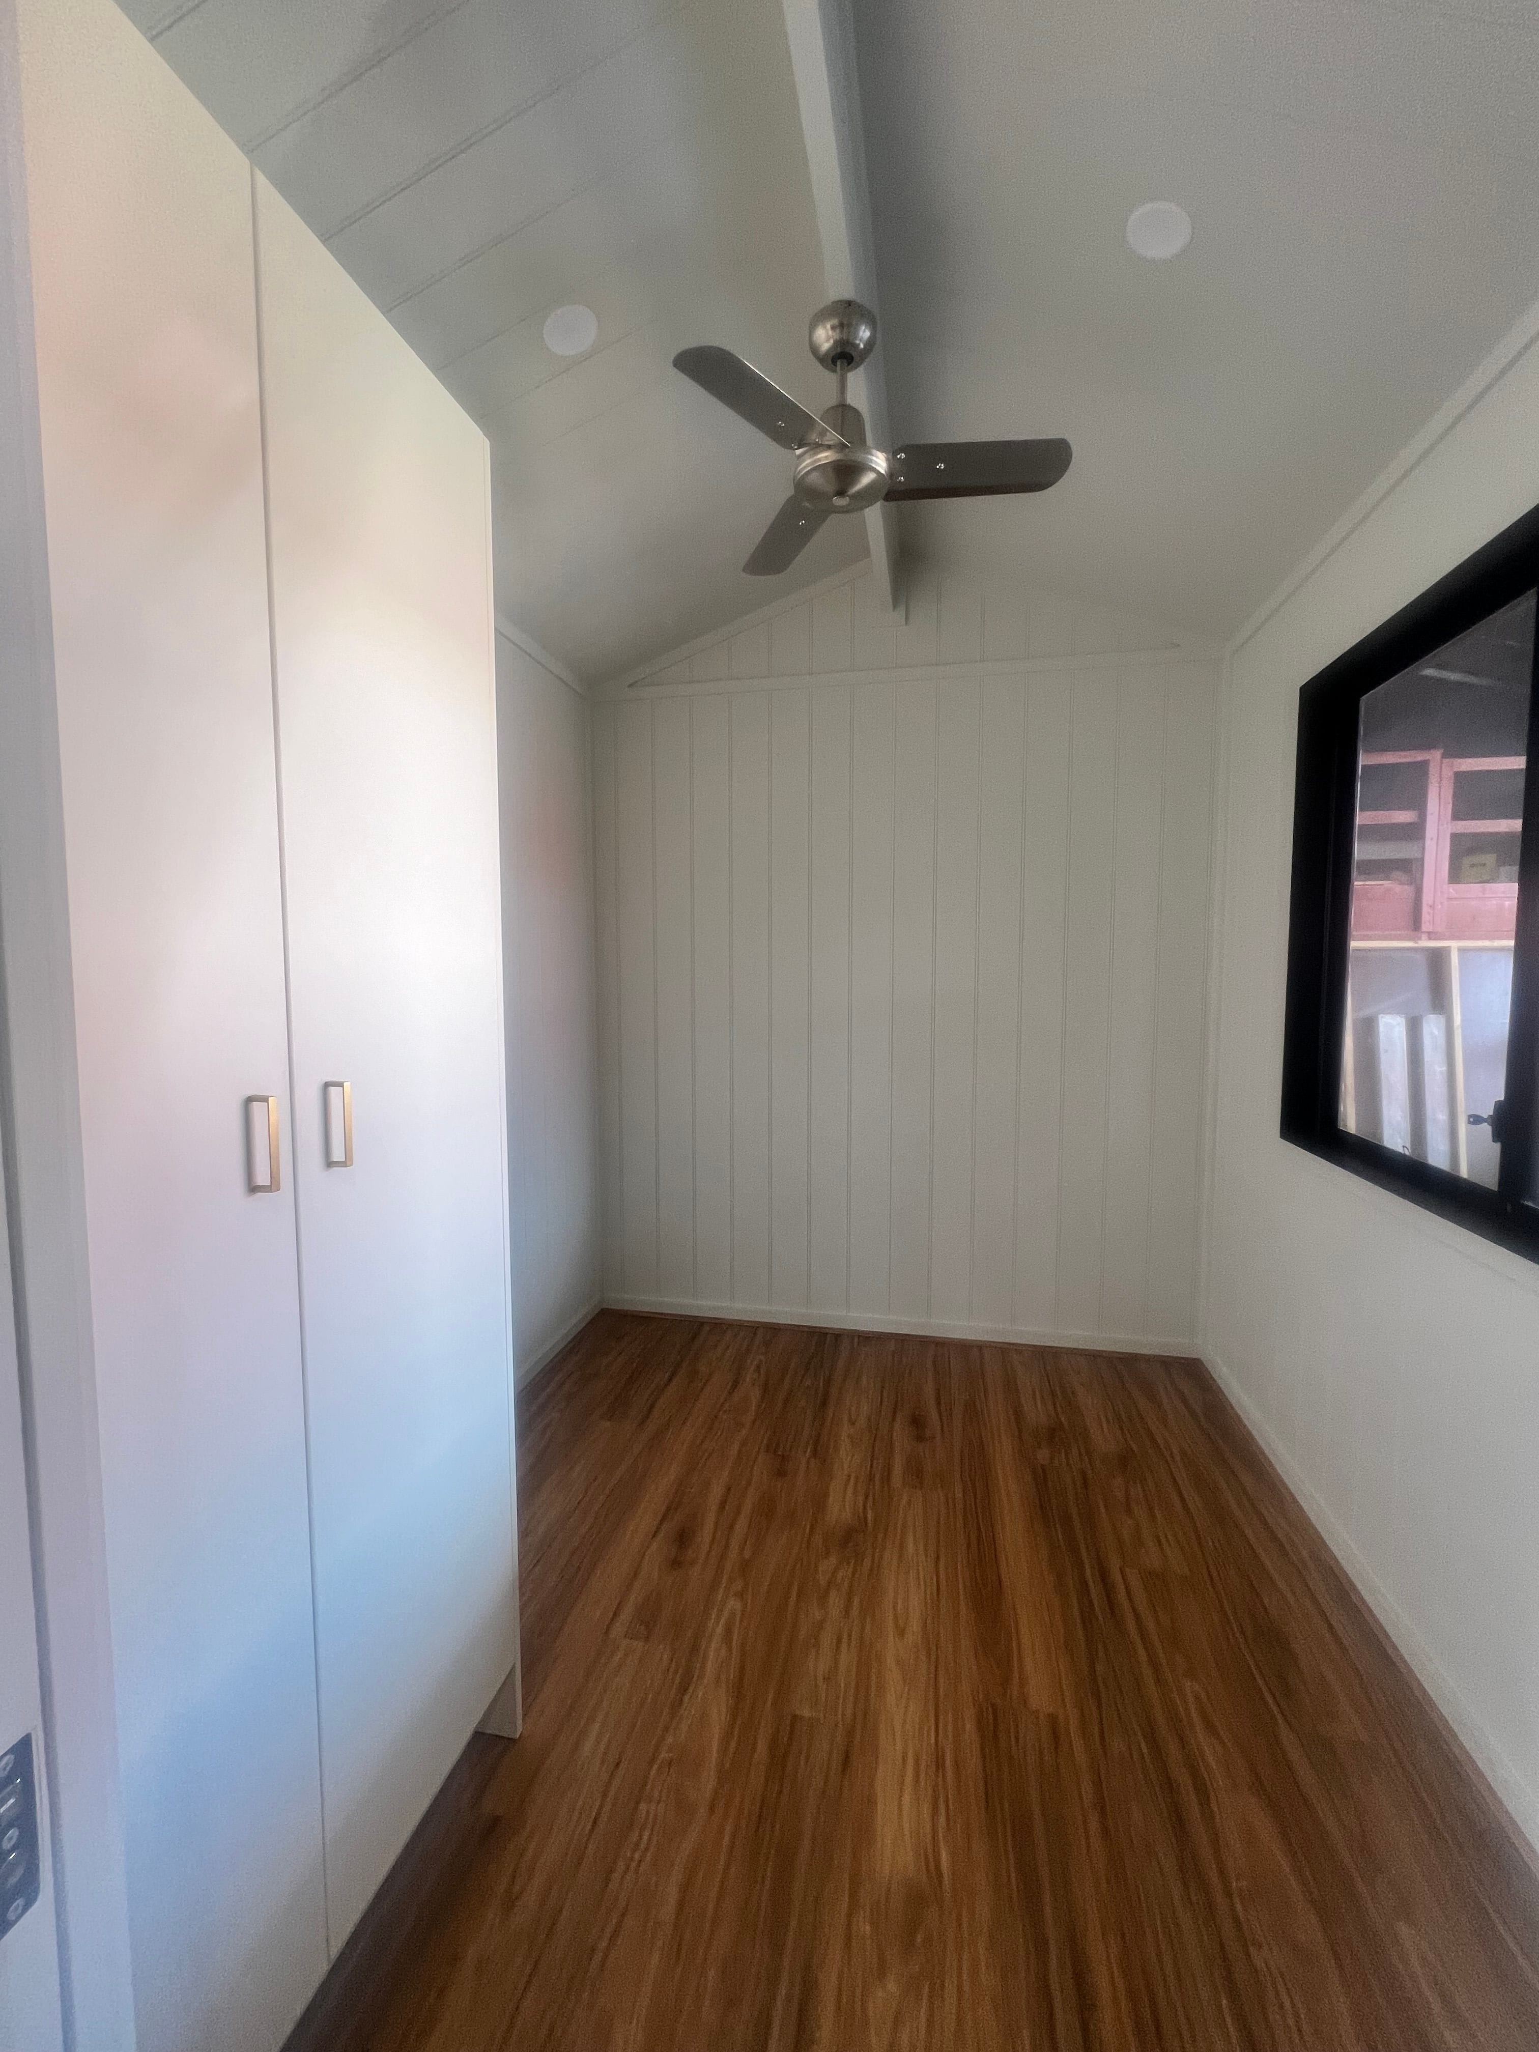
[[1282, 1135], [1539, 1260], [1539, 511], [1299, 694]]

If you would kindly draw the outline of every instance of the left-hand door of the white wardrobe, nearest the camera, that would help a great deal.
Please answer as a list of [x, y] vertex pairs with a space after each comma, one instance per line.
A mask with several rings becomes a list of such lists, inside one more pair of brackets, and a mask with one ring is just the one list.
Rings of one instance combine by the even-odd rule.
[[21, 60], [140, 2048], [271, 2052], [324, 1906], [250, 174], [107, 0]]

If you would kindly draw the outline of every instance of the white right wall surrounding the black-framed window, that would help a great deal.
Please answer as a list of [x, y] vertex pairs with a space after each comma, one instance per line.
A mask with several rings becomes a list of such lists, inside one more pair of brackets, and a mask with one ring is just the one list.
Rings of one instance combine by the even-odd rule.
[[[1539, 1843], [1539, 1268], [1278, 1139], [1299, 685], [1539, 499], [1523, 334], [1231, 659], [1202, 1346]], [[1285, 587], [1287, 589], [1287, 587]]]

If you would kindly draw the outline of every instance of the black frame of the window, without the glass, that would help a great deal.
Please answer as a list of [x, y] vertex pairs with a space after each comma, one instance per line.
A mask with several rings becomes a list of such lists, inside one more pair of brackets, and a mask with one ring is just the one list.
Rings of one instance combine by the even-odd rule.
[[[1299, 692], [1293, 897], [1282, 1024], [1282, 1139], [1539, 1262], [1539, 675], [1529, 679], [1512, 1012], [1496, 1190], [1340, 1124], [1360, 704], [1445, 642], [1539, 593], [1539, 507], [1525, 513]], [[1539, 671], [1539, 616], [1535, 626]]]

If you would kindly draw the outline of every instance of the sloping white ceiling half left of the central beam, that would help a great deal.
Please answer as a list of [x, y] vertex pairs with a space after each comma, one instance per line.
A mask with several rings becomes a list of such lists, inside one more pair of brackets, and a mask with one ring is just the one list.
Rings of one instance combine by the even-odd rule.
[[[490, 435], [505, 618], [603, 677], [763, 605], [741, 564], [790, 458], [671, 359], [726, 343], [827, 402], [780, 0], [127, 12]], [[599, 316], [577, 361], [542, 341], [573, 300]], [[774, 595], [864, 554], [831, 521]]]

